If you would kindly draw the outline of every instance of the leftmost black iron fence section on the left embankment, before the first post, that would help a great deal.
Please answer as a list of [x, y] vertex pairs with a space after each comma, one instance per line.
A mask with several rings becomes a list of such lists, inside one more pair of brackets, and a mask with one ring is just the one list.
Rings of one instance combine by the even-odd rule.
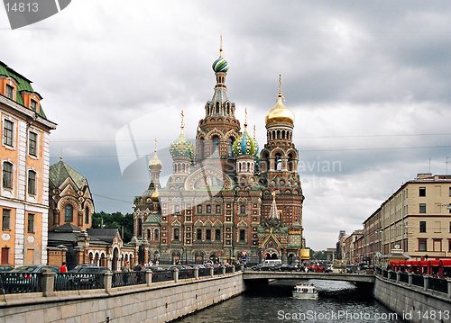
[[1, 293], [42, 292], [42, 273], [0, 273]]

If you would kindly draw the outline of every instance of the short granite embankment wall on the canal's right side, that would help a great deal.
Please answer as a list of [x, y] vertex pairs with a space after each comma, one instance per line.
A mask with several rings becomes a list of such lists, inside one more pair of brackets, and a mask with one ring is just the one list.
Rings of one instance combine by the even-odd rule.
[[376, 276], [374, 298], [398, 313], [398, 319], [412, 323], [451, 322], [451, 298], [444, 292]]

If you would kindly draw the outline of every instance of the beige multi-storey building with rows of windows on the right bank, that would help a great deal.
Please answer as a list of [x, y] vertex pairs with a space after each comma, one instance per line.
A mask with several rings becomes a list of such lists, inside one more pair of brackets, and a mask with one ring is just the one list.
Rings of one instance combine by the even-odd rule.
[[398, 249], [412, 260], [451, 257], [451, 175], [419, 174], [364, 221], [364, 254]]

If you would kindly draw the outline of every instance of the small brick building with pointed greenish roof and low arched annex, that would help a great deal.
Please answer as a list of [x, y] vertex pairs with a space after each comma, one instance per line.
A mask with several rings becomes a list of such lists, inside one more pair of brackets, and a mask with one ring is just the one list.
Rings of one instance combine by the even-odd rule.
[[87, 179], [62, 161], [50, 167], [48, 265], [66, 262], [118, 270], [134, 264], [136, 241], [126, 244], [118, 229], [92, 228], [94, 201]]

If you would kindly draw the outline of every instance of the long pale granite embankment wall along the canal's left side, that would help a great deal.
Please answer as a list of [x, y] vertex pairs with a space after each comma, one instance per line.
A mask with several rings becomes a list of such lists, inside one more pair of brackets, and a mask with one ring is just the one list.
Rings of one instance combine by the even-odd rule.
[[243, 273], [106, 290], [6, 295], [0, 323], [168, 322], [244, 292]]

